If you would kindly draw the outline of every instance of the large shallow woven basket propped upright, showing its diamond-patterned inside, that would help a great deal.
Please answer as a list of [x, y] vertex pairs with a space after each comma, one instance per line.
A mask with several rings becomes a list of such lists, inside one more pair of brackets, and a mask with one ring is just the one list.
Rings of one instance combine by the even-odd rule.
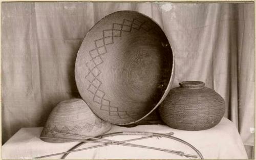
[[98, 117], [118, 125], [149, 115], [168, 94], [173, 72], [164, 32], [136, 11], [114, 12], [97, 22], [75, 64], [82, 99]]

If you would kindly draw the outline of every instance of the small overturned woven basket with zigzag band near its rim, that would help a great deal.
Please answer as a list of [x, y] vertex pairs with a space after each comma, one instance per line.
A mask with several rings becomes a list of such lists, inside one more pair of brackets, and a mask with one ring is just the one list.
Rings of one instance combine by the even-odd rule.
[[[41, 132], [41, 136], [62, 139], [84, 139], [79, 136], [65, 135], [62, 133], [98, 136], [111, 129], [111, 124], [98, 118], [80, 98], [62, 101], [52, 110]], [[41, 138], [51, 143], [68, 142]]]

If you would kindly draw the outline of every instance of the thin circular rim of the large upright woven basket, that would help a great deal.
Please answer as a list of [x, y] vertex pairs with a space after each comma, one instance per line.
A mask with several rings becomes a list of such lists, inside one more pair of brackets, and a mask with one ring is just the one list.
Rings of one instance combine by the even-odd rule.
[[[165, 35], [165, 37], [166, 37], [166, 39], [167, 39], [167, 41], [168, 41], [170, 50], [171, 50], [170, 53], [172, 54], [172, 72], [171, 72], [170, 77], [169, 77], [169, 80], [168, 80], [168, 85], [166, 86], [166, 89], [164, 90], [164, 94], [162, 95], [161, 99], [160, 99], [159, 102], [156, 104], [156, 106], [155, 106], [150, 112], [148, 112], [145, 116], [143, 116], [142, 118], [140, 118], [140, 119], [138, 119], [138, 120], [136, 120], [136, 121], [129, 122], [129, 123], [112, 123], [112, 122], [111, 122], [112, 124], [116, 124], [116, 125], [130, 125], [130, 124], [137, 123], [137, 122], [143, 120], [143, 119], [144, 119], [145, 117], [147, 117], [148, 115], [150, 115], [150, 114], [163, 102], [163, 100], [165, 99], [165, 97], [168, 95], [169, 90], [170, 90], [170, 86], [171, 86], [171, 84], [172, 84], [172, 82], [173, 82], [174, 74], [175, 74], [175, 60], [174, 60], [174, 59], [175, 59], [175, 58], [174, 58], [175, 56], [174, 56], [174, 53], [173, 53], [173, 50], [172, 50], [172, 45], [170, 44], [169, 38], [166, 36], [167, 34], [166, 34], [165, 31], [163, 30], [163, 28], [158, 24], [158, 22], [156, 22], [154, 19], [152, 19], [151, 17], [149, 17], [149, 16], [147, 16], [147, 15], [145, 15], [145, 14], [142, 14], [142, 13], [140, 13], [140, 12], [138, 12], [138, 11], [133, 11], [133, 10], [120, 10], [120, 11], [116, 11], [116, 12], [113, 12], [113, 13], [111, 13], [111, 14], [108, 14], [108, 15], [104, 16], [104, 17], [101, 18], [98, 22], [96, 22], [96, 24], [87, 32], [87, 34], [84, 36], [83, 40], [86, 39], [86, 37], [87, 37], [87, 35], [90, 33], [90, 31], [91, 31], [95, 26], [97, 26], [101, 20], [105, 19], [106, 17], [112, 16], [113, 14], [116, 14], [116, 13], [118, 13], [118, 12], [133, 12], [133, 13], [139, 14], [139, 15], [144, 16], [144, 17], [150, 19], [151, 21], [153, 21], [153, 22], [161, 29], [161, 31], [164, 33], [164, 35]], [[83, 41], [83, 40], [82, 40], [82, 41]], [[82, 47], [82, 45], [80, 46], [80, 48], [81, 48], [81, 47]], [[79, 50], [80, 50], [80, 48], [79, 48]], [[77, 62], [77, 59], [76, 59], [76, 62]], [[77, 63], [75, 64], [75, 68], [76, 68], [76, 65], [77, 65]], [[75, 72], [75, 77], [76, 77], [76, 72]], [[77, 80], [76, 80], [76, 79], [75, 79], [75, 81], [76, 81], [76, 83], [77, 83]], [[78, 89], [78, 92], [79, 92], [79, 89]], [[84, 102], [86, 102], [86, 100], [84, 100]], [[87, 102], [86, 102], [86, 103], [87, 103]], [[88, 103], [87, 103], [87, 105], [90, 107], [90, 105], [89, 105]], [[91, 108], [91, 107], [90, 107], [90, 108]], [[93, 111], [93, 110], [92, 110], [92, 111]], [[94, 112], [94, 111], [93, 111], [93, 112]], [[98, 117], [100, 117], [96, 112], [94, 112], [94, 113], [95, 113], [95, 115], [97, 115]], [[103, 119], [103, 120], [104, 120], [104, 119]], [[107, 120], [104, 120], [104, 121], [108, 122]]]

